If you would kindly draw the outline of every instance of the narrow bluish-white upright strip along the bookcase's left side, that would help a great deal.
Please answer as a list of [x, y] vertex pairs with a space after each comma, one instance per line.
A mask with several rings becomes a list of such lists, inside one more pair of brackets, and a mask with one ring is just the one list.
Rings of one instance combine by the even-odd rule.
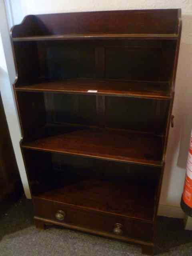
[[24, 185], [26, 196], [30, 197], [26, 172], [20, 150], [21, 132], [13, 96], [12, 83], [15, 80], [15, 68], [10, 43], [9, 28], [6, 20], [4, 3], [0, 0], [0, 92], [12, 139], [16, 161]]

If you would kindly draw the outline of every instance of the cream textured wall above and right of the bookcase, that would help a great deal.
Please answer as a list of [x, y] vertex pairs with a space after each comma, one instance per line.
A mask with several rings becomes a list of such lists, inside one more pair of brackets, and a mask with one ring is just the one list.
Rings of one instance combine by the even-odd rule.
[[10, 0], [15, 23], [28, 14], [182, 8], [183, 30], [176, 78], [173, 114], [175, 127], [170, 129], [167, 164], [163, 179], [159, 214], [182, 217], [182, 194], [187, 150], [192, 128], [192, 0]]

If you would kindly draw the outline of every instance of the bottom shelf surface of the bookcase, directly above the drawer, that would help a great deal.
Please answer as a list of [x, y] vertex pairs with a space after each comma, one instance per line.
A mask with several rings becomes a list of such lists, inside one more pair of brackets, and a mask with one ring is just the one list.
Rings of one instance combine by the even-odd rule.
[[139, 184], [128, 179], [74, 179], [68, 178], [65, 171], [60, 173], [52, 175], [50, 184], [40, 184], [40, 191], [34, 197], [153, 221], [156, 184]]

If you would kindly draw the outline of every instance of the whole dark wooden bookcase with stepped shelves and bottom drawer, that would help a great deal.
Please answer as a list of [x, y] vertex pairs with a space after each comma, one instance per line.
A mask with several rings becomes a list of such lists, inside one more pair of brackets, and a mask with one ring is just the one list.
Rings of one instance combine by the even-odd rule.
[[152, 254], [181, 11], [26, 16], [11, 31], [21, 148], [38, 228]]

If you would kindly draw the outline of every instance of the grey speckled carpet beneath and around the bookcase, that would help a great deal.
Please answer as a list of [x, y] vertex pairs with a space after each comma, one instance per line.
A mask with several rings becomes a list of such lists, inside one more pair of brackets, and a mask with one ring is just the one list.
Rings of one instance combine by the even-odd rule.
[[[155, 255], [192, 256], [192, 232], [158, 217]], [[0, 256], [141, 256], [140, 246], [51, 226], [37, 230], [31, 200], [0, 202]]]

